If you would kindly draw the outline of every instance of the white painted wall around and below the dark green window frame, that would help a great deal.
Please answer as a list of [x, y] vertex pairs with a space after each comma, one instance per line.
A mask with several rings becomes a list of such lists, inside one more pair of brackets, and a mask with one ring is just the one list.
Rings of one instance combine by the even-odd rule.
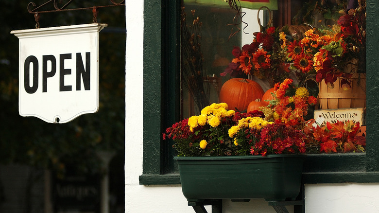
[[[187, 206], [179, 185], [139, 185], [143, 154], [142, 0], [126, 0], [126, 28], [125, 213], [194, 213]], [[379, 212], [379, 183], [309, 184], [305, 187], [305, 196], [307, 213]], [[224, 213], [275, 213], [263, 199], [254, 199], [248, 203], [223, 202]], [[293, 211], [292, 207], [288, 209]]]

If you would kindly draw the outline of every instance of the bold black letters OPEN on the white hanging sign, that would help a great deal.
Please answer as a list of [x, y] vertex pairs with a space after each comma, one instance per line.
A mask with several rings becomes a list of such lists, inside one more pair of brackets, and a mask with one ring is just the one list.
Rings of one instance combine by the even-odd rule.
[[[84, 89], [90, 90], [90, 58], [91, 53], [86, 52], [85, 63], [82, 53], [76, 53], [76, 90], [81, 90], [81, 79], [83, 79]], [[59, 91], [71, 91], [71, 85], [65, 85], [65, 75], [71, 74], [71, 69], [65, 68], [65, 61], [72, 60], [72, 53], [59, 54]], [[48, 71], [48, 62], [51, 63], [51, 70]], [[86, 65], [84, 65], [86, 64]], [[86, 66], [86, 68], [85, 68]], [[31, 81], [31, 67], [33, 68], [33, 81]], [[54, 55], [42, 56], [42, 92], [47, 92], [48, 78], [53, 77], [57, 72], [57, 59]], [[24, 88], [29, 94], [33, 94], [38, 89], [39, 62], [36, 56], [30, 55], [24, 63]], [[33, 85], [30, 84], [33, 82]]]

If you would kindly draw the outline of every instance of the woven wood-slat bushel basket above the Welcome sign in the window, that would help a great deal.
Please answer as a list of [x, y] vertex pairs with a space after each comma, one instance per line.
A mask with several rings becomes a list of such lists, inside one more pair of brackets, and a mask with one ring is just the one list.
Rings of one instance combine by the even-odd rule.
[[343, 78], [338, 78], [334, 88], [330, 89], [324, 80], [319, 83], [318, 99], [321, 109], [366, 107], [366, 74], [354, 73], [350, 78], [351, 89], [344, 90], [340, 86]]

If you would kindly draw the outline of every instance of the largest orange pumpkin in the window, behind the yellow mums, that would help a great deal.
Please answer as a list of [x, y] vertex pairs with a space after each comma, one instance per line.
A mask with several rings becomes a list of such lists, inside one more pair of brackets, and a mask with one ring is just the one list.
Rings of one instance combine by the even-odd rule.
[[264, 91], [255, 81], [244, 78], [232, 78], [224, 83], [220, 90], [220, 102], [229, 109], [244, 111], [250, 102], [262, 98]]

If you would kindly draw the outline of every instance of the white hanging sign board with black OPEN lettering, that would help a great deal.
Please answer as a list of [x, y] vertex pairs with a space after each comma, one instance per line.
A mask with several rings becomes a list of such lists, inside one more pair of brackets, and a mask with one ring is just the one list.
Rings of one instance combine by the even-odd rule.
[[15, 30], [21, 116], [67, 123], [99, 109], [99, 32], [106, 24]]

